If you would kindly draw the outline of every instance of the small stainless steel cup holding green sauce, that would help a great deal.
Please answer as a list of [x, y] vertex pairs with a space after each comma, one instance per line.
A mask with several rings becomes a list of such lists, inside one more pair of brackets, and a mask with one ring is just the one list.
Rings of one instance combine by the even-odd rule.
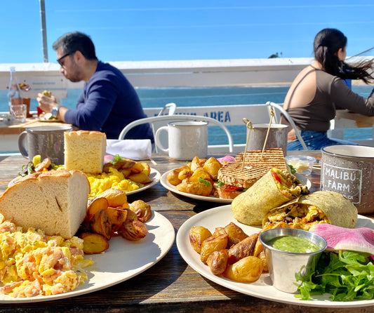
[[[309, 253], [294, 253], [278, 250], [269, 245], [276, 237], [294, 236], [312, 241], [318, 251]], [[267, 266], [273, 286], [286, 293], [296, 293], [301, 281], [297, 281], [295, 274], [308, 274], [314, 270], [316, 262], [321, 253], [325, 250], [327, 243], [321, 236], [302, 229], [294, 228], [273, 228], [260, 234], [260, 241], [264, 246]]]

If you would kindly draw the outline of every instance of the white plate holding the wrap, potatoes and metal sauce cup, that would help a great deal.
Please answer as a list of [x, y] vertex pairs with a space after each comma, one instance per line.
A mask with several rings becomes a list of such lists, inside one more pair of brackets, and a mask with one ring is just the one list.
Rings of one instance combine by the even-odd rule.
[[[300, 300], [295, 298], [295, 295], [291, 293], [283, 293], [274, 288], [269, 274], [262, 274], [260, 279], [255, 281], [253, 284], [238, 283], [226, 279], [225, 277], [211, 274], [209, 267], [201, 262], [200, 255], [194, 251], [189, 243], [189, 229], [193, 226], [199, 225], [206, 227], [213, 232], [215, 227], [225, 227], [229, 222], [234, 222], [236, 225], [241, 227], [246, 234], [254, 234], [260, 231], [260, 227], [243, 225], [235, 220], [232, 215], [231, 206], [229, 205], [211, 208], [194, 215], [192, 218], [189, 218], [184, 222], [178, 231], [176, 241], [180, 255], [182, 255], [182, 258], [190, 267], [192, 267], [196, 272], [199, 272], [203, 277], [214, 281], [216, 284], [238, 291], [239, 293], [252, 295], [253, 297], [265, 300], [290, 303], [293, 305], [306, 305], [309, 307], [363, 307], [374, 305], [374, 300], [356, 300], [347, 302], [331, 301], [328, 294], [314, 296], [315, 300]], [[370, 218], [359, 215], [356, 227], [369, 227], [374, 229], [374, 222]]]

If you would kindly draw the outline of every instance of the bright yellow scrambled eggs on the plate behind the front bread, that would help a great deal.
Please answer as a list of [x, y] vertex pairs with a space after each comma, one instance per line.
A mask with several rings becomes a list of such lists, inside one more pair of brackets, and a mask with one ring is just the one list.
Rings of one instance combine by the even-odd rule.
[[123, 192], [132, 192], [144, 186], [126, 179], [123, 173], [112, 167], [109, 168], [109, 173], [101, 173], [98, 175], [86, 173], [86, 176], [91, 185], [91, 192], [88, 194], [88, 197], [95, 197], [109, 188], [120, 189]]

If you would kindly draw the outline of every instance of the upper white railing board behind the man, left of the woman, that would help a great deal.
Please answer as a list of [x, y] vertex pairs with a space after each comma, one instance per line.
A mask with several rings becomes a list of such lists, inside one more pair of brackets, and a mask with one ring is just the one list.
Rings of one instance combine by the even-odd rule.
[[[110, 62], [135, 87], [253, 86], [290, 84], [310, 58]], [[0, 64], [0, 90], [9, 84], [9, 69], [15, 67], [19, 83], [29, 84], [29, 98], [48, 88], [66, 97], [67, 88], [82, 88], [60, 74], [57, 63]]]

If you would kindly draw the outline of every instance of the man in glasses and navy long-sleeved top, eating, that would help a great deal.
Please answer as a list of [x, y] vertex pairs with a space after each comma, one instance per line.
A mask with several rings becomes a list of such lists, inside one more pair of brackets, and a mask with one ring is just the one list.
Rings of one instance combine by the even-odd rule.
[[[38, 94], [44, 112], [85, 131], [102, 131], [108, 139], [117, 139], [123, 127], [145, 116], [133, 86], [108, 63], [98, 60], [91, 38], [81, 32], [60, 36], [53, 44], [60, 72], [72, 82], [84, 81], [76, 109], [58, 105], [55, 97]], [[126, 139], [151, 139], [149, 124], [133, 128]]]

